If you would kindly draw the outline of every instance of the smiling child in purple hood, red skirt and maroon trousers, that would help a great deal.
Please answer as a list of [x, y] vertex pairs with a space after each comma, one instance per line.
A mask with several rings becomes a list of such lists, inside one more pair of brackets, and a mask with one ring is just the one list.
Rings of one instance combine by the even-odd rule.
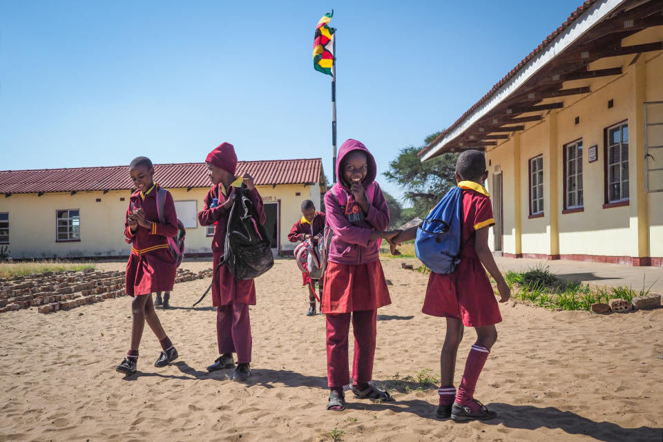
[[[340, 146], [336, 171], [347, 202], [345, 207], [340, 206], [334, 189], [325, 194], [327, 224], [334, 237], [329, 246], [321, 311], [327, 315], [327, 410], [340, 411], [345, 410], [343, 387], [349, 382], [347, 339], [351, 315], [355, 339], [352, 392], [358, 398], [392, 399], [369, 381], [373, 376], [376, 312], [378, 307], [391, 303], [378, 259], [379, 240], [390, 240], [398, 231], [384, 231], [389, 226], [389, 209], [382, 191], [371, 186], [376, 164], [361, 142], [347, 140]], [[372, 202], [366, 194], [369, 186], [374, 191]]]

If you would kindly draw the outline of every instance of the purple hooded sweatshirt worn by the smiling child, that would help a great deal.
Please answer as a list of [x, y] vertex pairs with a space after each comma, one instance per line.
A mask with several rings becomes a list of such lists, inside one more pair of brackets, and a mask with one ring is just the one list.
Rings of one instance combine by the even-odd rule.
[[[343, 180], [343, 171], [340, 166], [343, 158], [352, 151], [362, 151], [366, 154], [368, 171], [362, 184], [366, 189], [375, 180], [377, 168], [373, 155], [366, 146], [357, 140], [346, 140], [338, 149], [336, 159], [336, 179], [343, 187], [347, 195], [347, 204], [354, 202], [354, 195]], [[369, 198], [367, 198], [370, 201]], [[377, 183], [373, 202], [370, 205], [368, 215], [356, 220], [356, 215], [346, 215], [345, 207], [338, 204], [334, 189], [325, 193], [325, 211], [327, 213], [327, 225], [334, 231], [332, 244], [329, 246], [329, 261], [337, 264], [359, 265], [366, 264], [378, 259], [380, 242], [371, 240], [371, 231], [383, 231], [389, 227], [389, 208], [385, 195], [383, 195]], [[350, 219], [352, 220], [350, 220]]]

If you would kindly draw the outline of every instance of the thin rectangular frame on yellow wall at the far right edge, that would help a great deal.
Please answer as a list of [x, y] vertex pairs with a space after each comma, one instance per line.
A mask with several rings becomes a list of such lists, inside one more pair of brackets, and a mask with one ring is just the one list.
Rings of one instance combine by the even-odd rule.
[[644, 104], [645, 189], [663, 192], [663, 102]]

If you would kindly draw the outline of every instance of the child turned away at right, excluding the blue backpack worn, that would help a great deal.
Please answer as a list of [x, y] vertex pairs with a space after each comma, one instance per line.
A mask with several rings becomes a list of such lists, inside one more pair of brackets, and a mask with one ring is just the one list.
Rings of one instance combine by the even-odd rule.
[[[482, 152], [465, 151], [456, 163], [456, 181], [463, 189], [461, 261], [453, 273], [430, 273], [423, 313], [446, 318], [447, 332], [440, 355], [441, 387], [438, 416], [454, 420], [491, 419], [497, 416], [474, 399], [474, 387], [497, 340], [495, 324], [501, 322], [490, 276], [497, 282], [499, 302], [510, 298], [510, 290], [488, 247], [488, 228], [495, 223], [490, 195], [481, 185], [488, 177]], [[414, 239], [416, 227], [403, 231], [394, 243]], [[474, 327], [477, 341], [472, 345], [458, 391], [454, 371], [463, 326]]]

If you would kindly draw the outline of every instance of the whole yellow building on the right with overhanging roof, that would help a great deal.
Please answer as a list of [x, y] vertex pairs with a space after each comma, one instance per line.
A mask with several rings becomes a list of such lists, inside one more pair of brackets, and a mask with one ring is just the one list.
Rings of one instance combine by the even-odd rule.
[[663, 266], [663, 1], [586, 1], [420, 155], [470, 148], [497, 253]]

